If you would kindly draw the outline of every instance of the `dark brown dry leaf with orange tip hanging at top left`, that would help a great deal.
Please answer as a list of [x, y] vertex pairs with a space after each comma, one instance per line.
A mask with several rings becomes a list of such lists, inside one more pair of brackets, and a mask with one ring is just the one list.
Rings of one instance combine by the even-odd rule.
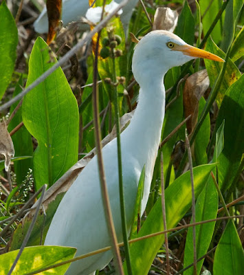
[[56, 35], [62, 10], [62, 0], [47, 0], [48, 34], [47, 45], [49, 45]]

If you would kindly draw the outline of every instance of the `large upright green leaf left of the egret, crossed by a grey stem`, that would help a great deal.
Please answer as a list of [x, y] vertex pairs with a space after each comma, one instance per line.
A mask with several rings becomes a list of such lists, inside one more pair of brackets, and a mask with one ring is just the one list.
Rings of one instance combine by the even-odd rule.
[[[27, 86], [56, 59], [38, 37], [29, 62]], [[23, 99], [23, 122], [38, 141], [33, 168], [36, 190], [52, 186], [78, 159], [78, 105], [59, 67]]]

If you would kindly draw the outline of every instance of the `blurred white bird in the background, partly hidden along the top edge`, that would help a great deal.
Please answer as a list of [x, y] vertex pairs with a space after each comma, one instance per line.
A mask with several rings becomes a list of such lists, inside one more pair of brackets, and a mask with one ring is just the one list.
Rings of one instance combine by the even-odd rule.
[[[121, 3], [122, 0], [115, 0], [116, 3]], [[129, 21], [133, 13], [133, 8], [137, 4], [138, 0], [130, 0], [124, 8], [120, 16], [123, 23], [124, 32], [126, 33], [129, 28]], [[85, 17], [87, 10], [89, 9], [88, 0], [63, 0], [62, 2], [62, 21], [63, 25], [67, 25], [72, 21], [78, 21], [81, 17]], [[40, 34], [48, 32], [48, 19], [47, 19], [47, 8], [43, 9], [38, 19], [34, 22], [34, 30]], [[89, 26], [85, 30], [89, 30]]]

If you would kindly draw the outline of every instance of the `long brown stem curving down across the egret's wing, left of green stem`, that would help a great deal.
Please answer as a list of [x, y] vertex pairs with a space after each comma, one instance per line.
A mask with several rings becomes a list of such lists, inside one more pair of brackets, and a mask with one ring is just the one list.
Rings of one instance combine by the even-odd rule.
[[[98, 80], [98, 47], [99, 47], [100, 32], [98, 32], [98, 40], [96, 43], [95, 50], [95, 60], [93, 68], [93, 83], [97, 83]], [[95, 126], [95, 139], [96, 139], [96, 149], [98, 155], [98, 170], [100, 177], [100, 186], [102, 192], [102, 203], [104, 206], [105, 217], [107, 221], [107, 228], [109, 231], [109, 236], [111, 238], [113, 255], [115, 256], [115, 263], [118, 267], [119, 274], [124, 274], [122, 268], [122, 261], [120, 259], [120, 250], [118, 248], [117, 236], [115, 233], [115, 228], [113, 224], [113, 216], [111, 212], [111, 206], [109, 202], [109, 192], [107, 189], [107, 183], [104, 172], [104, 163], [102, 159], [102, 144], [101, 144], [101, 132], [100, 132], [100, 122], [99, 122], [99, 111], [98, 111], [98, 85], [93, 85], [93, 116], [94, 116], [94, 126]]]

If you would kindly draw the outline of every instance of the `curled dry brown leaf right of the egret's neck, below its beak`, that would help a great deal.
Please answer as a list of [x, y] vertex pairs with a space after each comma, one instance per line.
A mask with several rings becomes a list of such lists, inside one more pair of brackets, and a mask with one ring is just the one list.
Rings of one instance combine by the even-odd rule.
[[186, 122], [188, 133], [192, 132], [197, 124], [199, 100], [210, 85], [206, 69], [192, 74], [186, 79], [183, 90], [183, 103], [185, 118], [192, 115]]

